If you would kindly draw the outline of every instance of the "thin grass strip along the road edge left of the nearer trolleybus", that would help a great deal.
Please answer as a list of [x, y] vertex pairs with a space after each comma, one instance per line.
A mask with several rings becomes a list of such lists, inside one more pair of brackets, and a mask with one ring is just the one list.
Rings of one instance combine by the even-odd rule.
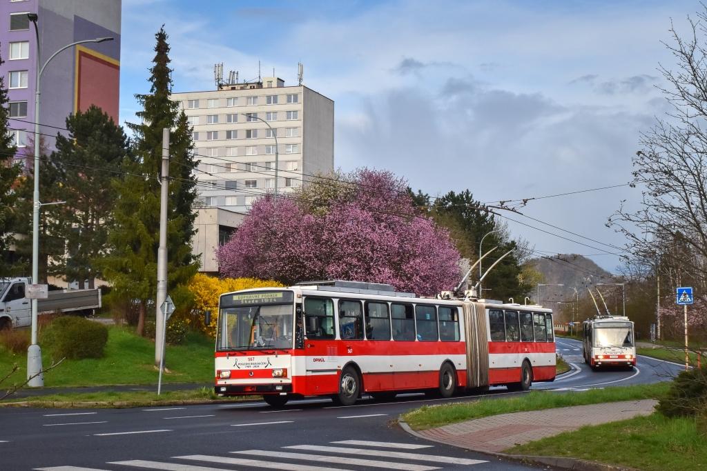
[[240, 400], [259, 400], [260, 396], [219, 398], [213, 388], [165, 391], [100, 391], [96, 393], [67, 393], [43, 395], [36, 398], [6, 399], [1, 407], [146, 407], [151, 405], [189, 403], [228, 403]]

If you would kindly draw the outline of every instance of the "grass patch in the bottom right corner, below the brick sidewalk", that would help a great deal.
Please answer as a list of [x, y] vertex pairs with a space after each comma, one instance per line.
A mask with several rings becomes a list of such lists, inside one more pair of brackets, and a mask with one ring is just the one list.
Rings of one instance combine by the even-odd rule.
[[694, 419], [668, 419], [657, 412], [582, 427], [505, 453], [583, 458], [644, 471], [707, 470], [707, 436], [698, 433]]

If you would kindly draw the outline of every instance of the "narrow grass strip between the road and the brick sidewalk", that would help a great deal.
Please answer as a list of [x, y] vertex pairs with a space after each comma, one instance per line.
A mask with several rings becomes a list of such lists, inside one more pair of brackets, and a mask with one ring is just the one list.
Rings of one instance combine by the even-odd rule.
[[614, 403], [622, 400], [655, 399], [667, 393], [670, 383], [591, 389], [582, 392], [553, 393], [532, 391], [512, 398], [482, 398], [466, 403], [425, 405], [401, 416], [413, 429], [431, 429], [508, 412], [552, 409], [572, 405]]

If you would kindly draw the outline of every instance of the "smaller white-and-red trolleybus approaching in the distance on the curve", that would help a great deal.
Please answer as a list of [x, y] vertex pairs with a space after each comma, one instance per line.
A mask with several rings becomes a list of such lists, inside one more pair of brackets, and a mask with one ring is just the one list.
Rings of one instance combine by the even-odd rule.
[[584, 361], [602, 366], [636, 366], [633, 322], [626, 316], [597, 316], [583, 322]]

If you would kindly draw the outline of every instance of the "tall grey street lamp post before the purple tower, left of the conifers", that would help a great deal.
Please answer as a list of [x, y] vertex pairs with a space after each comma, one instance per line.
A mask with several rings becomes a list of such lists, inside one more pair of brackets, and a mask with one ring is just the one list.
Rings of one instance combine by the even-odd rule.
[[[35, 38], [37, 40], [37, 48], [35, 50], [36, 69], [35, 69], [35, 158], [34, 158], [34, 193], [32, 205], [32, 282], [37, 283], [39, 280], [39, 251], [40, 251], [40, 78], [49, 61], [69, 47], [74, 47], [76, 44], [85, 42], [103, 42], [112, 41], [112, 37], [97, 37], [93, 40], [82, 40], [66, 44], [66, 46], [54, 52], [49, 59], [45, 61], [40, 68], [40, 32], [37, 28], [37, 13], [27, 13], [27, 17], [35, 26]], [[42, 377], [42, 351], [37, 345], [37, 299], [32, 299], [32, 345], [27, 349], [27, 378], [28, 386], [39, 388], [44, 386], [44, 378]]]

